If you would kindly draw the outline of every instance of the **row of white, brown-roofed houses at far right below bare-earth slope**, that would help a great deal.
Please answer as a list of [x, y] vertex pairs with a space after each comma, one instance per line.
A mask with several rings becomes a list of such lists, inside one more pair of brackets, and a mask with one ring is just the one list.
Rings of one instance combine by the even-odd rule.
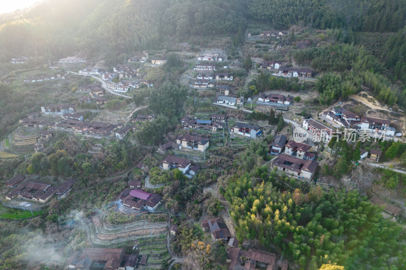
[[391, 127], [391, 121], [373, 117], [360, 117], [359, 115], [342, 107], [332, 108], [330, 111], [324, 111], [322, 116], [331, 121], [333, 125], [353, 129], [358, 132], [368, 131], [372, 134], [385, 134], [385, 136], [394, 136], [396, 129]]

